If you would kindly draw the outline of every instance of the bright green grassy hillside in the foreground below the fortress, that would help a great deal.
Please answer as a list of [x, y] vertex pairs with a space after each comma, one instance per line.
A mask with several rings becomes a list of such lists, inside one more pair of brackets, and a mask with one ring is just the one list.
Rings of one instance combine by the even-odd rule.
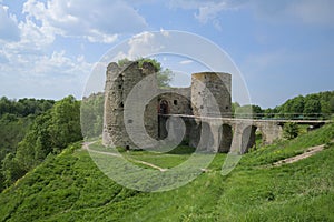
[[[217, 154], [207, 172], [163, 193], [118, 185], [77, 143], [0, 194], [0, 221], [334, 221], [333, 139], [334, 125], [327, 124], [279, 141], [245, 154], [226, 176], [220, 174], [226, 154]], [[326, 149], [311, 158], [272, 165], [323, 143]], [[171, 168], [189, 154], [124, 155]]]

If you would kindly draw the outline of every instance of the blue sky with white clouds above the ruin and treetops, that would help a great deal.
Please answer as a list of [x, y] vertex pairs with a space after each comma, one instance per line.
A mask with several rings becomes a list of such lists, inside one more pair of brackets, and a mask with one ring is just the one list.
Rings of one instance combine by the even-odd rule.
[[81, 99], [108, 50], [178, 30], [224, 50], [252, 103], [273, 108], [334, 90], [333, 10], [333, 0], [0, 0], [0, 97]]

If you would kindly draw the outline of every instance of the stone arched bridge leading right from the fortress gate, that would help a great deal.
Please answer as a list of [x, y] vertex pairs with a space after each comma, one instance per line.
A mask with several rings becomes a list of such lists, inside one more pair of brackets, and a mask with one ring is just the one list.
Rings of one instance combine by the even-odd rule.
[[[197, 117], [186, 114], [160, 114], [159, 137], [167, 135], [166, 122], [168, 118], [181, 118], [186, 124], [186, 137], [189, 145], [198, 147], [199, 139], [206, 139], [204, 149], [215, 152], [245, 153], [255, 147], [256, 131], [262, 134], [263, 144], [271, 144], [283, 137], [283, 125], [287, 122], [307, 124], [318, 128], [330, 120], [277, 120], [277, 119], [236, 119], [217, 117]], [[175, 128], [176, 125], [174, 125]], [[177, 128], [177, 127], [176, 127]], [[177, 129], [175, 129], [177, 132]], [[209, 141], [209, 142], [208, 142]], [[200, 144], [199, 144], [200, 147]]]

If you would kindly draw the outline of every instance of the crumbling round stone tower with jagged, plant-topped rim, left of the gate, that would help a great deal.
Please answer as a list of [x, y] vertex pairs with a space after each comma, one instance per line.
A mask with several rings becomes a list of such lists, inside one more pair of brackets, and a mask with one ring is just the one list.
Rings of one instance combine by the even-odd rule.
[[[134, 109], [134, 107], [126, 108], [125, 104], [134, 87], [144, 78], [154, 73], [155, 68], [149, 62], [144, 62], [143, 67], [139, 67], [138, 62], [128, 62], [121, 67], [116, 62], [111, 62], [108, 65], [102, 133], [102, 143], [105, 145], [112, 144], [114, 147], [136, 149], [136, 144], [134, 144], [127, 133], [124, 121], [125, 109]], [[151, 89], [155, 88], [156, 83], [153, 83]], [[129, 104], [131, 104], [131, 101]], [[157, 99], [149, 101], [146, 105], [144, 117], [139, 118], [144, 118], [147, 133], [156, 138], [158, 132]], [[131, 123], [134, 120], [127, 121]]]

